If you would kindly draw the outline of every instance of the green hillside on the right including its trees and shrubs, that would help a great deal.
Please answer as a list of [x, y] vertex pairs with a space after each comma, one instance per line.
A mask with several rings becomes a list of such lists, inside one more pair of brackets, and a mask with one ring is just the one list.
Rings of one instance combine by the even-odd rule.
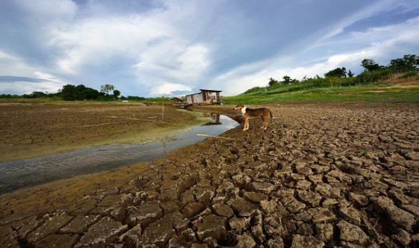
[[[383, 66], [374, 59], [363, 59], [364, 71], [354, 75], [345, 67], [335, 68], [324, 74], [324, 78], [315, 75], [302, 80], [285, 75], [282, 80], [270, 78], [266, 87], [253, 87], [237, 96], [222, 97], [226, 104], [257, 104], [280, 100], [334, 100], [334, 99], [385, 99], [402, 98], [405, 101], [419, 103], [419, 85], [408, 89], [382, 89], [402, 82], [419, 82], [419, 57], [414, 54], [392, 59], [388, 66]], [[381, 96], [371, 92], [381, 89]], [[343, 92], [346, 92], [343, 94]]]

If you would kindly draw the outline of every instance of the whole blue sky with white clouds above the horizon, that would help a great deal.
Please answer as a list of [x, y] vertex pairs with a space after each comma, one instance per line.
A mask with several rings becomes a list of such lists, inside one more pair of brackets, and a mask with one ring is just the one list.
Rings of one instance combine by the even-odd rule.
[[0, 0], [0, 93], [234, 95], [419, 54], [417, 0]]

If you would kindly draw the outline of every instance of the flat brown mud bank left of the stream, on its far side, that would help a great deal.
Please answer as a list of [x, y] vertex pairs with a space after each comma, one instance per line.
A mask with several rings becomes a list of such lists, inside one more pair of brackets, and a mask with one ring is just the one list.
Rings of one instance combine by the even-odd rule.
[[165, 138], [203, 122], [174, 108], [124, 104], [0, 105], [0, 161]]

